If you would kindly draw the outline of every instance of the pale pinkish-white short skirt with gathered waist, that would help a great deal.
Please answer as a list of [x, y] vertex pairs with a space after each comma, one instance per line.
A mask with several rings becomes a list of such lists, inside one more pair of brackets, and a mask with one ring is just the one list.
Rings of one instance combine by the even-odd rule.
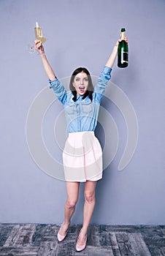
[[102, 178], [102, 149], [94, 132], [72, 132], [63, 151], [66, 181], [98, 181]]

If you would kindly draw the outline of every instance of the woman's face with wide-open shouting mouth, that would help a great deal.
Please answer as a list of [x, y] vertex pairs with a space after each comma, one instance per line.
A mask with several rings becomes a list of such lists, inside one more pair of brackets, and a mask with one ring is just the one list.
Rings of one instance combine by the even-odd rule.
[[73, 80], [73, 86], [78, 95], [84, 95], [88, 89], [88, 75], [83, 71], [78, 73]]

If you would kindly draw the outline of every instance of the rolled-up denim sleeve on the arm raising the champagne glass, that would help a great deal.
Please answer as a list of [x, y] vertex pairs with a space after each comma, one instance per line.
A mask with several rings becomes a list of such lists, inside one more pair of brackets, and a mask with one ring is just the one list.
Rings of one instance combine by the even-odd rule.
[[58, 80], [58, 78], [56, 78], [53, 81], [49, 80], [49, 83], [50, 83], [50, 89], [53, 89], [56, 97], [58, 97], [60, 102], [64, 104], [66, 102], [67, 92], [63, 84]]

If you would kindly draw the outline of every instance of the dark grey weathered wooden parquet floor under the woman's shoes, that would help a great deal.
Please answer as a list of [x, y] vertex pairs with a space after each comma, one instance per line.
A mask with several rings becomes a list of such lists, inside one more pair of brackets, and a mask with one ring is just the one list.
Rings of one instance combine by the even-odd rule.
[[76, 252], [80, 228], [71, 225], [65, 240], [59, 243], [58, 225], [0, 224], [0, 255], [165, 255], [165, 226], [91, 225], [86, 249]]

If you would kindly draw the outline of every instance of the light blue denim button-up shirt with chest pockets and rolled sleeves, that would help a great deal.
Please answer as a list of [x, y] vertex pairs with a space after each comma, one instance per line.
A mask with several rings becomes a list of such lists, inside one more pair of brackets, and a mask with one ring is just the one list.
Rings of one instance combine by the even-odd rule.
[[104, 94], [104, 90], [108, 81], [111, 78], [111, 68], [104, 67], [92, 94], [93, 100], [87, 96], [82, 99], [82, 96], [77, 95], [77, 101], [73, 101], [72, 91], [66, 91], [63, 84], [56, 78], [50, 82], [50, 89], [53, 89], [56, 97], [64, 105], [66, 114], [67, 131], [71, 132], [87, 132], [94, 131], [97, 124], [99, 114], [99, 106]]

